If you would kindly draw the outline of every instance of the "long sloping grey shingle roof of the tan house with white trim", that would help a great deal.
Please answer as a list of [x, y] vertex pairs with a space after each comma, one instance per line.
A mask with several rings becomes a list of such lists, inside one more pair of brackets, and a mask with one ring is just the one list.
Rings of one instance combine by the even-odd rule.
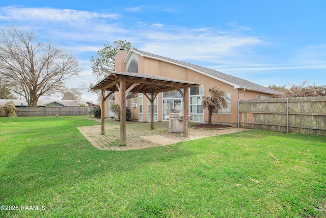
[[124, 63], [127, 62], [127, 60], [129, 59], [129, 57], [131, 56], [131, 53], [137, 53], [140, 56], [143, 57], [147, 57], [147, 58], [151, 58], [151, 59], [156, 59], [156, 60], [160, 60], [160, 61], [165, 61], [168, 63], [172, 63], [172, 64], [176, 64], [191, 70], [194, 70], [196, 72], [199, 72], [200, 74], [206, 75], [208, 77], [211, 77], [215, 80], [219, 80], [221, 82], [227, 83], [229, 85], [234, 86], [234, 88], [240, 88], [240, 89], [247, 89], [247, 90], [252, 90], [252, 91], [259, 91], [259, 92], [264, 92], [264, 93], [268, 93], [268, 94], [277, 94], [279, 93], [279, 91], [274, 90], [274, 89], [270, 89], [261, 85], [258, 85], [256, 83], [252, 83], [248, 80], [244, 80], [238, 77], [234, 77], [228, 74], [224, 74], [223, 72], [220, 72], [218, 70], [214, 70], [214, 69], [210, 69], [207, 67], [203, 67], [203, 66], [198, 66], [195, 64], [191, 64], [191, 63], [187, 63], [187, 62], [183, 62], [183, 61], [178, 61], [175, 59], [171, 59], [171, 58], [166, 58], [166, 57], [162, 57], [159, 55], [154, 55], [148, 52], [143, 52], [140, 50], [133, 50], [130, 49], [125, 60]]

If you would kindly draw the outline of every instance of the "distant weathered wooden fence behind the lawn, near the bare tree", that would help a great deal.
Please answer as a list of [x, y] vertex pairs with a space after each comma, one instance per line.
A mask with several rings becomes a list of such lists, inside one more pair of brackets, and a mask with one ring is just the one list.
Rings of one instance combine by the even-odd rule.
[[88, 107], [18, 107], [17, 116], [89, 115]]

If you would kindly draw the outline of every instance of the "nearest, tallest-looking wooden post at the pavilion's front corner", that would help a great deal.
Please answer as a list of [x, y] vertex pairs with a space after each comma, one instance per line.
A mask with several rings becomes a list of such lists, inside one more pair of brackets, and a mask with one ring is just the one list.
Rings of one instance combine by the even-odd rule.
[[126, 81], [120, 81], [120, 145], [126, 144]]

